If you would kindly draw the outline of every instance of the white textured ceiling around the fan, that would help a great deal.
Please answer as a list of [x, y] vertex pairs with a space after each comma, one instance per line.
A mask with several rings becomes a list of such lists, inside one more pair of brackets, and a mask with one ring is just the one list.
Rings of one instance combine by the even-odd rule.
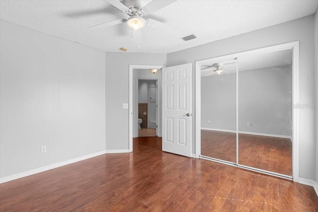
[[[181, 33], [146, 26], [132, 42], [125, 23], [89, 26], [127, 18], [105, 0], [0, 0], [0, 19], [105, 52], [170, 53], [314, 14], [318, 0], [178, 0], [150, 18]], [[195, 34], [196, 39], [181, 37]], [[139, 48], [139, 44], [141, 44]]]

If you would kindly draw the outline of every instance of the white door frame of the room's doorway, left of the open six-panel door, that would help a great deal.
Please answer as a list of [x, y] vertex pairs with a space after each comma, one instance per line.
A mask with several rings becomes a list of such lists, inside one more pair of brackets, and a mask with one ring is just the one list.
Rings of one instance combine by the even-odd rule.
[[[129, 65], [129, 152], [133, 151], [133, 89], [134, 89], [134, 79], [133, 79], [133, 70], [134, 69], [162, 69], [164, 65]], [[158, 89], [159, 90], [159, 89]], [[157, 120], [158, 121], [158, 120]]]

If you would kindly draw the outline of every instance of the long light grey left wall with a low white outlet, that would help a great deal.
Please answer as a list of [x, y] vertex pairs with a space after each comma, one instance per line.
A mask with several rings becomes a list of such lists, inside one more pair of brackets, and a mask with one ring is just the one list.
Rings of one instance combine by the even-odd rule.
[[0, 46], [1, 178], [106, 149], [104, 52], [4, 21]]

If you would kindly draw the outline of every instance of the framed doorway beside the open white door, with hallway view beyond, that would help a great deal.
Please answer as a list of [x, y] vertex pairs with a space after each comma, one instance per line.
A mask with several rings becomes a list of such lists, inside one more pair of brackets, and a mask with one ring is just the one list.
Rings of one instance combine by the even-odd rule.
[[130, 149], [133, 138], [161, 137], [161, 68], [134, 65], [131, 69]]

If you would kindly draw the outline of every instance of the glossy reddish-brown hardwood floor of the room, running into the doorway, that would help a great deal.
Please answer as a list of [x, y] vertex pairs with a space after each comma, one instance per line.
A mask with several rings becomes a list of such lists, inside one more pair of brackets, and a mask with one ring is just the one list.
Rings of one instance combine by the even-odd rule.
[[161, 151], [158, 137], [0, 184], [0, 211], [317, 212], [310, 186]]

